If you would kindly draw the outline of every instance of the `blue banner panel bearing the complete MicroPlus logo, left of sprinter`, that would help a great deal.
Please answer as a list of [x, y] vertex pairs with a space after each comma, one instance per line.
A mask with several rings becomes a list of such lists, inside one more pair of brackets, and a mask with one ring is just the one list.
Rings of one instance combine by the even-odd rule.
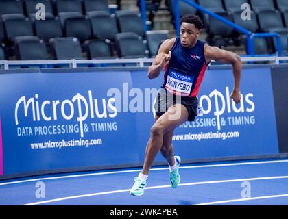
[[107, 95], [123, 83], [129, 72], [1, 75], [3, 175], [139, 162], [136, 114]]

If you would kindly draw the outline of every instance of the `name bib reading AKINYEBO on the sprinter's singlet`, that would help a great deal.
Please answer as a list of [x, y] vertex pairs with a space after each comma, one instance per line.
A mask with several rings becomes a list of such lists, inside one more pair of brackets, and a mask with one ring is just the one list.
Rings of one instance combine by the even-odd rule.
[[165, 88], [177, 96], [189, 96], [193, 84], [193, 76], [177, 73], [175, 70], [169, 69]]

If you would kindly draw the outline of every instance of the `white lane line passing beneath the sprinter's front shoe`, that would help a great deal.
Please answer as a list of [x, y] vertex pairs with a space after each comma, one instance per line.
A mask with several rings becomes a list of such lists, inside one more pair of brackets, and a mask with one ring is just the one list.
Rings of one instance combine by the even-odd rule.
[[[238, 181], [256, 181], [256, 180], [265, 180], [265, 179], [287, 179], [288, 176], [276, 176], [276, 177], [258, 177], [258, 178], [244, 178], [244, 179], [228, 179], [228, 180], [219, 180], [219, 181], [203, 181], [203, 182], [194, 182], [194, 183], [181, 183], [178, 186], [187, 186], [187, 185], [204, 185], [204, 184], [213, 184], [213, 183], [230, 183], [230, 182], [238, 182]], [[145, 188], [145, 190], [152, 190], [152, 189], [159, 189], [159, 188], [170, 188], [171, 185], [157, 185], [157, 186], [150, 186]], [[129, 192], [130, 189], [125, 189], [125, 190], [114, 190], [114, 191], [108, 191], [108, 192], [97, 192], [97, 193], [91, 193], [91, 194], [82, 194], [79, 196], [67, 196], [63, 198], [55, 198], [55, 199], [50, 199], [46, 201], [39, 201], [35, 203], [27, 203], [24, 205], [40, 205], [40, 204], [45, 204], [45, 203], [52, 203], [56, 201], [64, 201], [64, 200], [69, 200], [69, 199], [74, 199], [74, 198], [84, 198], [88, 196], [99, 196], [99, 195], [104, 195], [104, 194], [115, 194], [115, 193], [120, 193], [120, 192]]]

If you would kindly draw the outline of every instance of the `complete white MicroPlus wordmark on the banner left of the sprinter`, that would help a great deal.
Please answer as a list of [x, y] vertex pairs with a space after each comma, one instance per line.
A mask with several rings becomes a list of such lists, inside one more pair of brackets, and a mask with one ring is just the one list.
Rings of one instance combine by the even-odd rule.
[[[95, 116], [97, 118], [115, 118], [117, 116], [117, 108], [113, 105], [115, 98], [110, 98], [107, 102], [106, 99], [101, 99], [103, 112], [100, 113], [99, 100], [93, 99], [91, 90], [88, 91], [88, 100], [79, 93], [73, 96], [72, 99], [64, 99], [63, 101], [38, 101], [38, 98], [38, 94], [28, 100], [26, 96], [21, 96], [15, 106], [16, 125], [19, 125], [19, 114], [24, 113], [24, 116], [27, 117], [28, 112], [31, 111], [33, 121], [58, 120], [60, 116], [64, 120], [72, 120], [76, 117], [80, 125], [81, 137], [83, 137], [83, 122], [88, 118], [89, 114], [91, 118], [95, 118]], [[75, 107], [77, 107], [77, 112], [75, 112]], [[23, 111], [20, 109], [23, 109]], [[58, 113], [59, 110], [60, 114]]]

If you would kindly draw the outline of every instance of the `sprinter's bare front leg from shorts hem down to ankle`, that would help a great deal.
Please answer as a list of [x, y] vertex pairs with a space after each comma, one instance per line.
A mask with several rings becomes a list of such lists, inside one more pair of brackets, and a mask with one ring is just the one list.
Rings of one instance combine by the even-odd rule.
[[[154, 158], [156, 157], [158, 151], [160, 151], [160, 149], [162, 148], [164, 143], [163, 137], [165, 136], [165, 133], [175, 129], [176, 127], [184, 123], [187, 119], [188, 112], [186, 107], [181, 104], [176, 104], [169, 107], [167, 112], [165, 112], [165, 114], [163, 114], [162, 116], [160, 116], [160, 118], [158, 118], [158, 120], [156, 120], [156, 122], [151, 128], [150, 138], [146, 146], [145, 160], [142, 170], [142, 173], [144, 175], [148, 175]], [[170, 162], [173, 165], [173, 161]]]

